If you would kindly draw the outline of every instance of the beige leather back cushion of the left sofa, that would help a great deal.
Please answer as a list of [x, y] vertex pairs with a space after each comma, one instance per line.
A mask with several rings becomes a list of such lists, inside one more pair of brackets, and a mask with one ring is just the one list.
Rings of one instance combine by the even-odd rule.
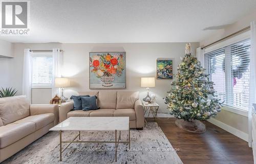
[[29, 101], [26, 96], [0, 99], [0, 117], [4, 125], [29, 116]]

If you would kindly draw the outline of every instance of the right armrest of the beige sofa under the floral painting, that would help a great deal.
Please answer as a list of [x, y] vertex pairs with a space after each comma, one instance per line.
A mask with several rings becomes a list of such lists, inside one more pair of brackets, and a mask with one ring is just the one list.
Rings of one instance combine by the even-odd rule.
[[136, 113], [136, 127], [143, 128], [144, 126], [144, 107], [141, 100], [136, 100], [134, 104], [134, 110]]

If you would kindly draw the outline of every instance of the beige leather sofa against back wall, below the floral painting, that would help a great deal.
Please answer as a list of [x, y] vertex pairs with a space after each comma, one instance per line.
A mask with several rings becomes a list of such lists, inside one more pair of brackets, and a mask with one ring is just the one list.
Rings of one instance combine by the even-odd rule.
[[79, 95], [97, 96], [97, 110], [72, 110], [74, 103], [69, 102], [59, 108], [60, 122], [71, 116], [129, 116], [130, 127], [143, 129], [144, 109], [138, 91], [83, 91]]

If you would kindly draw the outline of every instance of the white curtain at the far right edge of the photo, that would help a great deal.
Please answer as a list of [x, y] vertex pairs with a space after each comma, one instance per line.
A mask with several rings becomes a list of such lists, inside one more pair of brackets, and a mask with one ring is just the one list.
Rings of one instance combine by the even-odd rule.
[[249, 98], [249, 111], [248, 111], [248, 130], [249, 138], [248, 145], [252, 147], [252, 104], [256, 103], [256, 21], [251, 22], [251, 52], [250, 52], [250, 98]]

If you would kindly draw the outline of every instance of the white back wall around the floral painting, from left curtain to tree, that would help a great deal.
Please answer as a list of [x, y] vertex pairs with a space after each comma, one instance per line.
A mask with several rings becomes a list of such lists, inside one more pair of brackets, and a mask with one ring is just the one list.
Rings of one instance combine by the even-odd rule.
[[[191, 43], [193, 54], [199, 43]], [[141, 77], [156, 76], [157, 58], [174, 58], [174, 74], [185, 54], [185, 43], [79, 43], [62, 44], [63, 76], [70, 77], [75, 85], [73, 90], [89, 90], [89, 52], [125, 51], [126, 52], [126, 90], [139, 90], [140, 98], [145, 97], [145, 88], [140, 87]], [[163, 98], [172, 80], [156, 80], [151, 93], [156, 94], [160, 112], [167, 112]], [[66, 91], [66, 97], [76, 94]]]

